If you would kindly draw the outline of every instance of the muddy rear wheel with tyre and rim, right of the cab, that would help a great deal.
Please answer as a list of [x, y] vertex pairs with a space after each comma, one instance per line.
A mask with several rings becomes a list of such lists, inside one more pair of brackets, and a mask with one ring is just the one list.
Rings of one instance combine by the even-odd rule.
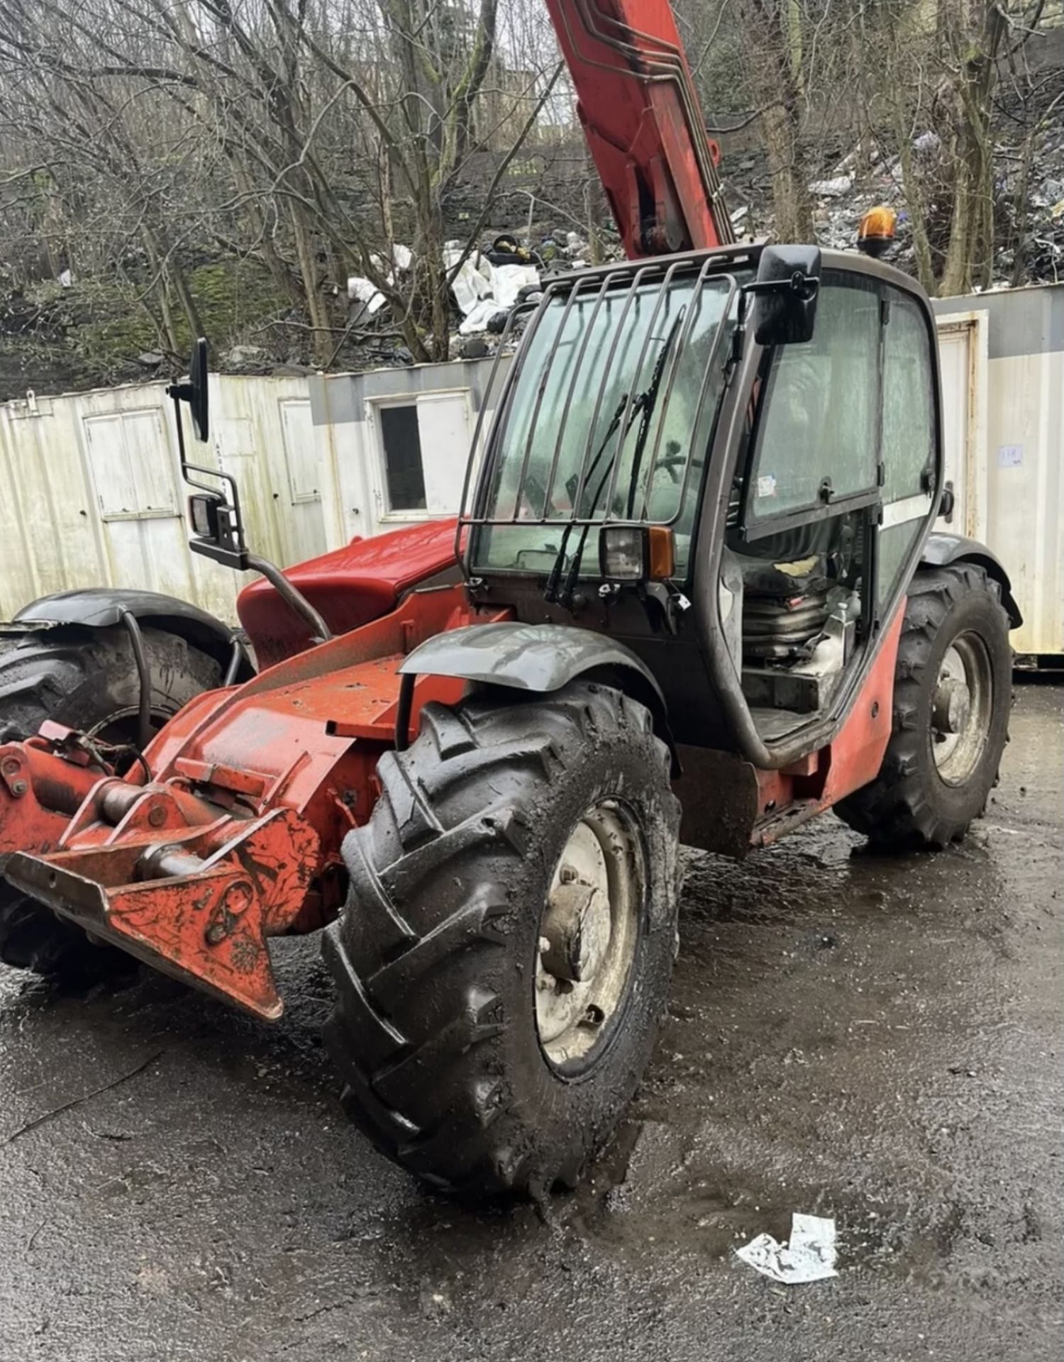
[[971, 563], [920, 569], [898, 644], [883, 768], [836, 813], [883, 850], [960, 842], [997, 783], [1011, 706], [999, 583]]

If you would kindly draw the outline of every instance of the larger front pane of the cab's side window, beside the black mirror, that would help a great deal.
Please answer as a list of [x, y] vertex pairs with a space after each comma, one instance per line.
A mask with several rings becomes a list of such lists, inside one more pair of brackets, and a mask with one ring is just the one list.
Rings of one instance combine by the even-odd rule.
[[880, 286], [826, 271], [816, 332], [781, 346], [760, 402], [747, 523], [871, 492], [879, 460]]

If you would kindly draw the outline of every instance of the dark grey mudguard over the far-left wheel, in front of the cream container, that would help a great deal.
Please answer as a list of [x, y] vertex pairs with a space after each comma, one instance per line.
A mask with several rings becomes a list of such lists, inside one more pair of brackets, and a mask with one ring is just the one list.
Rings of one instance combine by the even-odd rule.
[[[54, 629], [63, 624], [78, 624], [86, 629], [109, 629], [121, 624], [127, 613], [142, 624], [187, 639], [223, 665], [233, 654], [233, 631], [228, 625], [199, 606], [162, 595], [159, 591], [138, 591], [127, 587], [59, 591], [56, 595], [41, 597], [40, 601], [23, 606], [11, 625], [12, 632], [33, 628]], [[4, 628], [0, 624], [0, 633]], [[244, 654], [237, 680], [247, 681], [253, 674], [255, 669]]]

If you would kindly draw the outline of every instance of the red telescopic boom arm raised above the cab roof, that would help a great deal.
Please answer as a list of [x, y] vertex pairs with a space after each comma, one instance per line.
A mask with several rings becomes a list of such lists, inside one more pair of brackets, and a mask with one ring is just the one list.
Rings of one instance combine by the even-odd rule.
[[668, 0], [546, 0], [629, 259], [734, 241]]

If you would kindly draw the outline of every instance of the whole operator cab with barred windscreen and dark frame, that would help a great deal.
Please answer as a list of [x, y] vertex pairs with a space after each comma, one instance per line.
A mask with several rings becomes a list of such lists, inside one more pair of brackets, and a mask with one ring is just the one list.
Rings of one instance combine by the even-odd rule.
[[736, 746], [729, 695], [767, 748], [808, 737], [930, 524], [936, 364], [918, 287], [860, 256], [740, 247], [560, 281], [463, 513], [474, 598], [621, 639], [681, 742]]

